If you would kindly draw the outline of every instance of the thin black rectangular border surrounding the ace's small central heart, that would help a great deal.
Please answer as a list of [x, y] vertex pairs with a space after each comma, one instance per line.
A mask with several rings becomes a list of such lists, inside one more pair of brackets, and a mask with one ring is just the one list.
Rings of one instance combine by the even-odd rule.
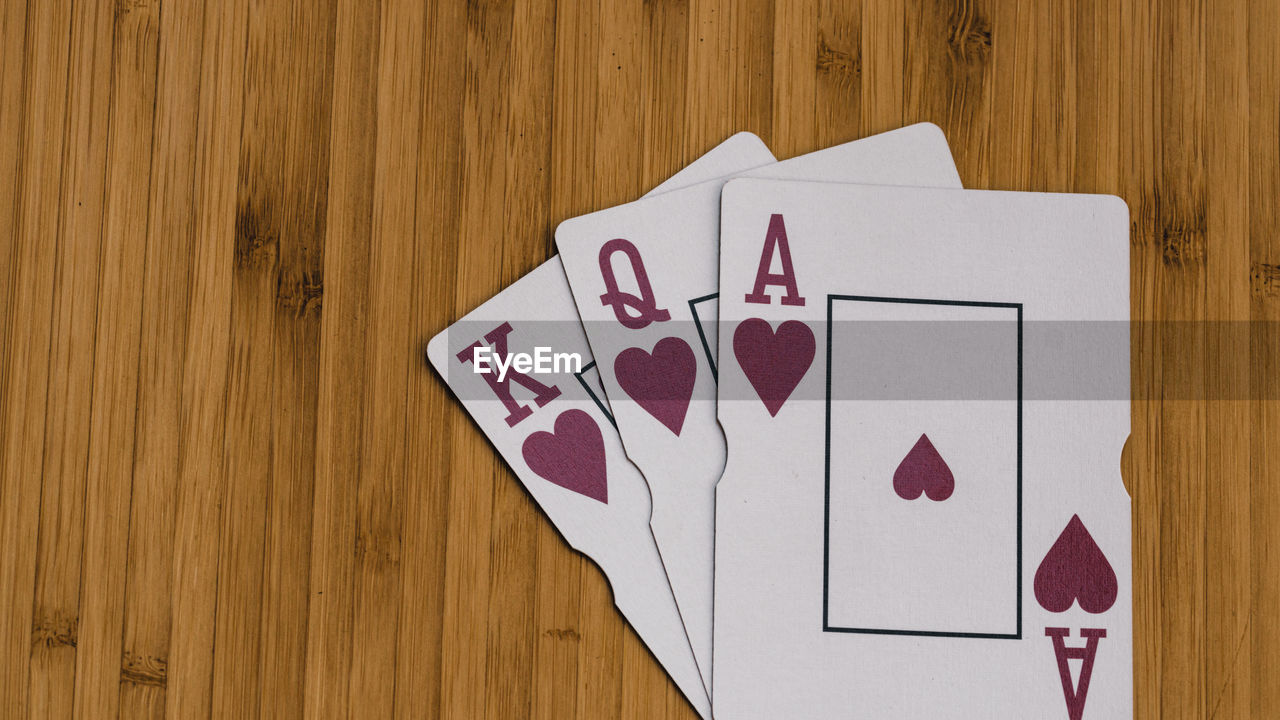
[[[831, 341], [835, 301], [896, 302], [902, 305], [948, 305], [961, 307], [1004, 307], [1018, 311], [1018, 626], [1014, 633], [947, 633], [940, 630], [895, 630], [883, 628], [842, 628], [828, 621], [831, 596]], [[1023, 304], [979, 302], [970, 300], [922, 300], [913, 297], [876, 297], [867, 295], [827, 295], [827, 389], [826, 439], [823, 442], [823, 521], [822, 521], [822, 632], [864, 635], [908, 635], [928, 638], [1010, 639], [1023, 638]]]

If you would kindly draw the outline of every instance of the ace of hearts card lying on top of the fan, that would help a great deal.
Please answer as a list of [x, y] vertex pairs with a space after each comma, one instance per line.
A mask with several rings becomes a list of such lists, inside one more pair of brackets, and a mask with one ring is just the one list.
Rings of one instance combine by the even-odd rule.
[[1132, 716], [1128, 223], [724, 187], [718, 717]]

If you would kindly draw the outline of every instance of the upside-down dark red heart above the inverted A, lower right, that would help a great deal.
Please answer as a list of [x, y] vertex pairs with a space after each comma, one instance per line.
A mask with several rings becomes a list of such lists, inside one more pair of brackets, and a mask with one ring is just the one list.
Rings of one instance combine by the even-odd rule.
[[1066, 612], [1079, 601], [1082, 610], [1097, 615], [1111, 610], [1116, 592], [1116, 571], [1080, 516], [1071, 515], [1036, 570], [1036, 600], [1050, 612]]

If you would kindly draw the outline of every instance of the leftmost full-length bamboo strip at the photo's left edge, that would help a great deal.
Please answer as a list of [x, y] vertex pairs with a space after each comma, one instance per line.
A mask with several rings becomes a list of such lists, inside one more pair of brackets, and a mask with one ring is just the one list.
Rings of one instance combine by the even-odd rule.
[[[9, 15], [9, 13], [6, 13]], [[12, 17], [12, 15], [10, 15]], [[20, 706], [29, 698], [32, 620], [40, 527], [47, 388], [59, 378], [50, 366], [54, 275], [58, 272], [63, 151], [68, 127], [69, 3], [27, 9], [23, 122], [17, 131], [20, 182], [8, 245], [8, 337], [4, 407], [0, 409], [0, 648], [12, 670], [0, 693]], [[65, 259], [68, 254], [63, 254]], [[69, 378], [59, 378], [68, 382]], [[12, 660], [9, 660], [12, 659]], [[41, 659], [42, 660], [42, 659]]]

